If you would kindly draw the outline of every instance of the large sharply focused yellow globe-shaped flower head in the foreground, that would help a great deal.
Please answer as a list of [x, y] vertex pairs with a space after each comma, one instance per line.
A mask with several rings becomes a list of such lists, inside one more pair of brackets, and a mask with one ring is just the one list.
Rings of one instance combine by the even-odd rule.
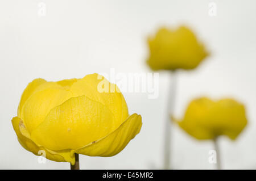
[[24, 90], [12, 123], [25, 149], [36, 155], [44, 150], [46, 158], [72, 165], [75, 153], [118, 154], [142, 125], [141, 115], [129, 116], [118, 87], [98, 74], [59, 82], [35, 79]]

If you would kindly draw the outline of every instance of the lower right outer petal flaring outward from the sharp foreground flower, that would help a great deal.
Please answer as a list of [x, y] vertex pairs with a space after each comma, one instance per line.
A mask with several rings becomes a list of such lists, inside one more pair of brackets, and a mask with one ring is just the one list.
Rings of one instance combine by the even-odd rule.
[[105, 138], [94, 141], [84, 148], [74, 150], [74, 152], [89, 156], [112, 157], [122, 151], [129, 141], [141, 131], [141, 126], [141, 115], [134, 113]]

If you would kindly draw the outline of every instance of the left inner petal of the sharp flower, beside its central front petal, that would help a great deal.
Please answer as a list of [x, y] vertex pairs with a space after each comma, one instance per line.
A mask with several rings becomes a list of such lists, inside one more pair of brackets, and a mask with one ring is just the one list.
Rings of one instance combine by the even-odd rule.
[[22, 108], [20, 119], [23, 120], [28, 132], [31, 133], [44, 121], [53, 107], [59, 106], [69, 98], [71, 98], [71, 92], [64, 89], [48, 88], [37, 91], [27, 99]]

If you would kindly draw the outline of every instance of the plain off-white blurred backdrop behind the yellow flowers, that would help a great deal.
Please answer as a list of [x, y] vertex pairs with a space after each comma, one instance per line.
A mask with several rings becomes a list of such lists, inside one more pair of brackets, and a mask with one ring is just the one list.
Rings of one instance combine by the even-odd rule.
[[[40, 16], [39, 3], [46, 5]], [[209, 3], [217, 5], [209, 16]], [[57, 81], [89, 73], [149, 72], [146, 39], [160, 26], [185, 24], [211, 52], [196, 70], [179, 71], [175, 115], [200, 95], [231, 96], [246, 106], [249, 124], [233, 142], [222, 137], [224, 169], [256, 169], [256, 2], [251, 1], [0, 1], [0, 169], [69, 169], [24, 150], [11, 125], [22, 91], [35, 78]], [[110, 158], [80, 156], [81, 169], [160, 169], [170, 76], [159, 74], [159, 98], [124, 94], [129, 112], [142, 115], [141, 133]], [[172, 132], [174, 169], [213, 169], [210, 141]]]

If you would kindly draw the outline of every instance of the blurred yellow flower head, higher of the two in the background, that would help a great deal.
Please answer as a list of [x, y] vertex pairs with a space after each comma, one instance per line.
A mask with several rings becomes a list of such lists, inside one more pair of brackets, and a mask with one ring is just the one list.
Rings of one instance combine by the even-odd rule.
[[208, 52], [187, 27], [177, 30], [160, 28], [148, 39], [150, 56], [147, 64], [152, 70], [194, 69]]

